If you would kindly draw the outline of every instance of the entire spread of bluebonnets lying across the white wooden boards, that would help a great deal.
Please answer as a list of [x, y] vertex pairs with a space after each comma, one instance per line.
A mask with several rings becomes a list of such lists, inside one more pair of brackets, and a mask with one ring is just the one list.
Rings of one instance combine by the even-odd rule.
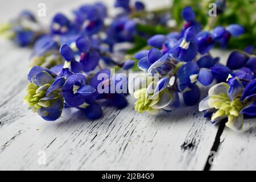
[[[121, 11], [111, 18], [100, 2], [78, 7], [72, 18], [57, 13], [49, 30], [30, 11], [1, 27], [0, 34], [18, 45], [34, 46], [24, 97], [28, 109], [47, 121], [71, 107], [98, 119], [102, 107], [127, 106], [129, 92], [138, 113], [158, 114], [181, 101], [199, 103], [201, 88], [212, 86], [199, 104], [212, 123], [228, 118], [226, 126], [240, 131], [243, 118], [256, 117], [254, 47], [233, 51], [226, 65], [210, 53], [239, 39], [246, 28], [205, 26], [191, 6], [179, 12], [184, 21], [178, 29], [168, 25], [169, 9], [148, 13], [142, 2], [129, 0], [114, 6]], [[225, 1], [217, 1], [219, 16], [225, 9]], [[130, 77], [129, 69], [142, 73]]]

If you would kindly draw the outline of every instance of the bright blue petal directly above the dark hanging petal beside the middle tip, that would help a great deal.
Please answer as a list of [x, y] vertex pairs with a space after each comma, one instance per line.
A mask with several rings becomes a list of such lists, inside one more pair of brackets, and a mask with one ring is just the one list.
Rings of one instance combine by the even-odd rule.
[[180, 91], [183, 91], [190, 84], [190, 76], [199, 73], [199, 67], [194, 61], [182, 65], [177, 72], [178, 86]]

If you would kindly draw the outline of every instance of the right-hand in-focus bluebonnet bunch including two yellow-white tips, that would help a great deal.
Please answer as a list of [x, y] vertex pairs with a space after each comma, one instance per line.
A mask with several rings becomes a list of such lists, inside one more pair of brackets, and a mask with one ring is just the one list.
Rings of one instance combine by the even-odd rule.
[[[130, 82], [137, 85], [132, 90], [137, 99], [135, 110], [150, 114], [160, 109], [171, 111], [179, 107], [180, 94], [184, 104], [195, 105], [201, 98], [200, 88], [216, 84], [200, 102], [199, 110], [207, 110], [205, 117], [212, 116], [213, 123], [228, 117], [226, 126], [242, 130], [243, 117], [256, 116], [253, 80], [256, 60], [250, 55], [254, 48], [247, 47], [246, 52], [233, 51], [223, 65], [218, 57], [210, 55], [210, 50], [216, 44], [225, 48], [231, 36], [243, 34], [243, 27], [231, 24], [204, 31], [191, 7], [185, 7], [182, 15], [185, 23], [181, 31], [152, 36], [148, 39], [152, 48], [134, 55], [138, 68], [146, 72], [144, 80]], [[155, 81], [155, 76], [160, 80]], [[146, 80], [152, 81], [143, 84]]]

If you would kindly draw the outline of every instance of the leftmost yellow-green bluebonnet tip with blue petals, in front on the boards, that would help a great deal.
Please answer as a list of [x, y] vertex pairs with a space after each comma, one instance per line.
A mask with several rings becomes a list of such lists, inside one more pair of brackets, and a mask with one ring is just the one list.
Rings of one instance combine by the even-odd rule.
[[59, 89], [49, 90], [56, 75], [46, 68], [33, 67], [28, 73], [27, 95], [24, 102], [28, 109], [36, 112], [47, 121], [60, 117], [63, 109], [63, 97]]

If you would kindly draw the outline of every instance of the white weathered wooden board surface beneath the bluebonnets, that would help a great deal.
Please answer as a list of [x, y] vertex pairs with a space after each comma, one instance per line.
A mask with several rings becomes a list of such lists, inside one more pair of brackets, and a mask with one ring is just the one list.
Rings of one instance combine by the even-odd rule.
[[[0, 23], [25, 7], [36, 11], [39, 2], [46, 2], [47, 17], [42, 21], [47, 22], [57, 11], [69, 12], [88, 1], [1, 1]], [[159, 4], [147, 2], [151, 7]], [[0, 40], [0, 47], [1, 170], [256, 169], [255, 119], [246, 121], [245, 133], [226, 128], [222, 133], [197, 112], [197, 106], [183, 105], [170, 114], [152, 116], [136, 113], [134, 100], [128, 97], [128, 107], [106, 108], [97, 121], [88, 121], [80, 111], [65, 110], [59, 120], [45, 122], [22, 102], [31, 50], [5, 40]], [[228, 56], [220, 51], [213, 54], [222, 61]], [[212, 149], [217, 151], [216, 164], [209, 166]], [[39, 165], [39, 151], [46, 152], [46, 165]]]

